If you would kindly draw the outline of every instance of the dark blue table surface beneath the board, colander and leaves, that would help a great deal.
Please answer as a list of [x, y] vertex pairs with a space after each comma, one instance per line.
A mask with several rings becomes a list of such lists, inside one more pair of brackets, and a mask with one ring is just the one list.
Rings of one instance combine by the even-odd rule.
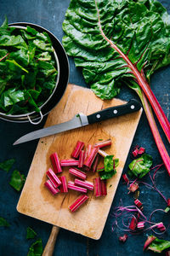
[[[160, 0], [170, 13], [169, 0]], [[1, 0], [0, 1], [0, 24], [3, 23], [5, 15], [8, 17], [8, 22], [27, 21], [47, 28], [59, 38], [61, 42], [63, 31], [62, 21], [65, 19], [65, 10], [69, 6], [69, 0]], [[74, 62], [69, 59], [71, 73], [69, 81], [73, 84], [87, 86], [82, 78], [81, 70], [74, 66]], [[170, 108], [170, 67], [166, 67], [153, 75], [151, 79], [151, 87], [154, 91], [161, 107], [169, 118]], [[128, 100], [132, 97], [138, 98], [132, 90], [122, 88], [119, 96], [122, 100]], [[0, 120], [0, 162], [14, 158], [16, 160], [13, 170], [18, 169], [25, 173], [31, 166], [33, 154], [37, 148], [37, 141], [21, 144], [18, 147], [12, 146], [14, 140], [29, 131], [34, 131], [36, 128], [41, 128], [44, 125], [45, 119], [41, 125], [37, 127], [26, 124], [9, 123]], [[160, 128], [160, 126], [159, 126]], [[161, 129], [160, 129], [161, 131]], [[169, 145], [166, 138], [161, 131], [161, 137], [166, 144], [167, 150], [170, 153]], [[133, 145], [140, 144], [146, 148], [154, 158], [154, 165], [161, 164], [161, 157], [156, 149], [156, 144], [150, 132], [150, 127], [147, 123], [145, 114], [139, 122], [139, 127], [133, 140]], [[131, 148], [131, 149], [132, 149]], [[123, 150], [123, 148], [122, 148]], [[127, 165], [131, 160], [130, 154], [127, 158], [127, 163], [124, 172], [127, 171]], [[12, 171], [13, 171], [12, 170]], [[6, 173], [0, 170], [0, 217], [6, 218], [10, 224], [8, 228], [0, 228], [0, 256], [25, 256], [32, 241], [26, 240], [26, 228], [30, 226], [37, 231], [38, 237], [42, 238], [42, 244], [45, 246], [48, 241], [52, 226], [43, 223], [37, 219], [26, 217], [16, 211], [16, 205], [20, 197], [20, 193], [8, 184], [12, 171]], [[149, 181], [146, 177], [144, 180]], [[169, 182], [167, 172], [162, 168], [162, 173], [157, 177], [158, 188], [164, 193], [166, 197], [170, 197]], [[120, 181], [116, 191], [115, 199], [111, 206], [110, 214], [107, 218], [103, 235], [99, 241], [88, 239], [87, 237], [77, 235], [68, 230], [60, 230], [58, 240], [56, 242], [54, 256], [107, 256], [107, 255], [154, 255], [152, 252], [143, 253], [144, 241], [147, 234], [151, 231], [139, 236], [130, 236], [126, 243], [122, 244], [118, 241], [118, 236], [123, 232], [120, 230], [112, 232], [111, 224], [114, 219], [111, 215], [113, 208], [119, 204], [120, 199], [124, 205], [128, 206], [133, 203], [133, 195], [127, 195], [127, 188]], [[144, 186], [140, 188], [140, 198], [144, 201], [144, 213], [149, 216], [156, 208], [165, 208], [166, 204], [155, 191], [146, 189]], [[89, 216], [90, 218], [90, 216]], [[97, 218], [97, 216], [96, 216]], [[161, 221], [161, 214], [157, 214], [156, 218]], [[167, 230], [165, 239], [170, 240], [170, 232]], [[164, 255], [161, 253], [160, 255]]]

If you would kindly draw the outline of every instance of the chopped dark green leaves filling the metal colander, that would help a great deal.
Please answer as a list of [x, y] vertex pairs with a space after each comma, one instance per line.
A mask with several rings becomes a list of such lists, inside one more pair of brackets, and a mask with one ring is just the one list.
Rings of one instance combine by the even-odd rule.
[[0, 113], [40, 112], [59, 80], [57, 55], [47, 32], [0, 27]]

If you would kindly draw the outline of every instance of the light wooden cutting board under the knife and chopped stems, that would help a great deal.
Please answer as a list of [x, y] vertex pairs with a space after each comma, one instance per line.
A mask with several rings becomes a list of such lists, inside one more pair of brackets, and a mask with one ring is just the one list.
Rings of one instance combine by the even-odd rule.
[[[94, 95], [92, 90], [68, 84], [65, 95], [56, 108], [48, 114], [45, 126], [65, 122], [80, 112], [90, 114], [103, 108], [123, 103], [125, 102], [118, 99], [103, 102]], [[141, 113], [142, 110], [40, 139], [25, 186], [20, 195], [17, 206], [18, 212], [49, 224], [54, 224], [65, 230], [99, 239], [104, 229]], [[100, 139], [105, 140], [108, 138], [111, 138], [112, 145], [105, 148], [105, 151], [119, 158], [120, 164], [116, 169], [116, 175], [107, 182], [107, 195], [94, 198], [93, 193], [88, 192], [89, 200], [77, 212], [71, 213], [68, 206], [79, 195], [77, 191], [70, 190], [67, 194], [51, 195], [48, 189], [44, 187], [44, 183], [47, 180], [45, 173], [49, 167], [52, 167], [49, 156], [54, 152], [58, 152], [60, 160], [69, 159], [77, 140], [81, 140], [88, 145], [97, 143]], [[71, 174], [68, 173], [68, 167], [63, 168], [63, 170], [63, 175], [66, 175], [67, 180], [74, 180], [74, 177], [71, 177]], [[98, 173], [88, 173], [87, 179], [91, 181], [97, 176]]]

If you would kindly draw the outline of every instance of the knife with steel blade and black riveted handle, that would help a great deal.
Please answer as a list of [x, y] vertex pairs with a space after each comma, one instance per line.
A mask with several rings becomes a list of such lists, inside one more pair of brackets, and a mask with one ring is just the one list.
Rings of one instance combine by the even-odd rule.
[[94, 124], [96, 122], [104, 121], [106, 119], [111, 119], [125, 113], [133, 113], [141, 108], [141, 104], [136, 100], [130, 100], [126, 104], [122, 104], [116, 107], [105, 108], [99, 112], [92, 113], [90, 115], [85, 115], [83, 113], [78, 113], [75, 117], [65, 123], [59, 125], [49, 126], [47, 128], [42, 128], [37, 131], [32, 131], [23, 137], [20, 137], [14, 145], [20, 143], [26, 143], [35, 140], [40, 137], [47, 137], [49, 135], [54, 135], [62, 131], [69, 131], [76, 129], [85, 125]]

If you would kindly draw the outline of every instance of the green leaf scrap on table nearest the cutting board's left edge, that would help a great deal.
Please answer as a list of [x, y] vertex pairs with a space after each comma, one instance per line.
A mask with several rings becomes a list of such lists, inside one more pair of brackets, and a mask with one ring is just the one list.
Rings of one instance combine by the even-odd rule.
[[24, 174], [20, 174], [19, 171], [14, 170], [14, 172], [12, 173], [11, 179], [9, 184], [16, 189], [17, 191], [20, 191], [20, 189], [22, 189], [24, 183], [26, 181], [26, 177]]

